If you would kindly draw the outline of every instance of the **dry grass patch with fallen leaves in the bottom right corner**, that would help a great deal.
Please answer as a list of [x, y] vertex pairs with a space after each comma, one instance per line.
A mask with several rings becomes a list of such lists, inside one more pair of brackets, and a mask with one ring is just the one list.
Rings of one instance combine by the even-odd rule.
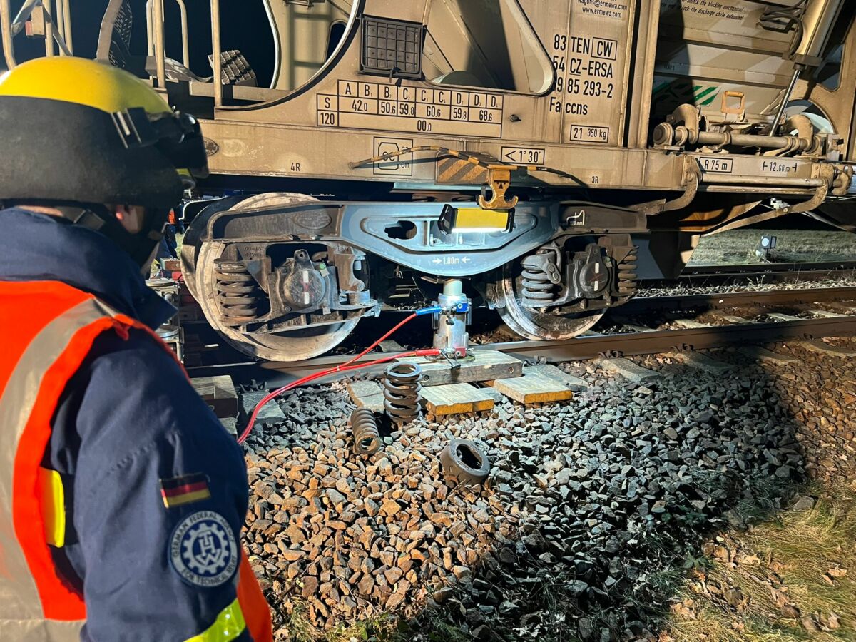
[[814, 508], [708, 544], [664, 639], [856, 640], [856, 494], [815, 490]]

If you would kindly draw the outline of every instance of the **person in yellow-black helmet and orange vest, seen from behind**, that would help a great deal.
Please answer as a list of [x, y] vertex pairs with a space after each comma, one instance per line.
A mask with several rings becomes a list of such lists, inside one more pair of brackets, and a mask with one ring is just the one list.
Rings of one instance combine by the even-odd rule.
[[0, 637], [271, 639], [247, 470], [154, 329], [199, 124], [74, 57], [0, 78]]

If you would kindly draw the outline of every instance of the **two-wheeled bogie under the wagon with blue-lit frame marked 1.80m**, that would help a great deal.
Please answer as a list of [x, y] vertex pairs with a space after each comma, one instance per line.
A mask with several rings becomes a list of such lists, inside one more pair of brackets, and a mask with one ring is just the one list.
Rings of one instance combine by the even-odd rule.
[[[197, 217], [185, 271], [217, 330], [270, 360], [322, 354], [360, 318], [431, 300], [430, 283], [444, 277], [465, 279], [473, 300], [526, 338], [579, 334], [633, 295], [631, 234], [645, 232], [638, 212], [527, 202], [493, 229], [456, 229], [467, 224], [467, 205], [262, 194]], [[423, 287], [401, 296], [396, 281]]]

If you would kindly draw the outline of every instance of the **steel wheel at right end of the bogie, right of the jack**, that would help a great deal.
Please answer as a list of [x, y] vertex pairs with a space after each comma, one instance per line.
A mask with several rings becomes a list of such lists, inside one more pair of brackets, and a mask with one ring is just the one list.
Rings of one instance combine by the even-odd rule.
[[[502, 321], [520, 336], [534, 341], [562, 341], [589, 330], [596, 324], [603, 311], [580, 313], [574, 316], [546, 314], [525, 307], [517, 294], [517, 279], [505, 271], [497, 283], [497, 312]], [[501, 307], [500, 307], [501, 306]]]

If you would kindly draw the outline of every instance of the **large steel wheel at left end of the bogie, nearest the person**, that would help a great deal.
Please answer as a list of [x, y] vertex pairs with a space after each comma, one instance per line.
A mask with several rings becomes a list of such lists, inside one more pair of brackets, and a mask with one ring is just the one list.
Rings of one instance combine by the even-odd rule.
[[[231, 211], [241, 211], [257, 207], [289, 205], [309, 200], [317, 199], [294, 193], [265, 193], [242, 200], [241, 203], [230, 209]], [[199, 305], [202, 306], [205, 317], [208, 318], [217, 332], [223, 336], [229, 345], [242, 353], [270, 361], [312, 359], [312, 357], [317, 357], [336, 348], [360, 321], [360, 319], [353, 319], [338, 324], [318, 325], [276, 333], [246, 333], [217, 323], [219, 314], [215, 302], [214, 266], [215, 261], [222, 255], [223, 248], [222, 243], [202, 243], [199, 241], [199, 252], [194, 261], [195, 288], [192, 288], [192, 291], [199, 301]]]

